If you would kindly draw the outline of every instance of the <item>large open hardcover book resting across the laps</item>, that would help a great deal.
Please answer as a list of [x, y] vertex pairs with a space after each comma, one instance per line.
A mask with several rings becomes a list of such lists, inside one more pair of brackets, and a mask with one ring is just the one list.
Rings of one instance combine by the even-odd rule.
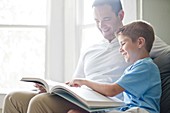
[[121, 100], [103, 96], [88, 87], [70, 87], [65, 83], [29, 77], [22, 78], [21, 81], [39, 83], [48, 93], [61, 96], [89, 112], [114, 109], [124, 105]]

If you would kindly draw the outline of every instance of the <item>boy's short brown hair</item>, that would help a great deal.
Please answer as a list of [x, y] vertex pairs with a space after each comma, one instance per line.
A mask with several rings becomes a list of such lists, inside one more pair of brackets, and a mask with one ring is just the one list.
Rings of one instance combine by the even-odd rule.
[[148, 52], [151, 51], [155, 40], [155, 34], [153, 27], [150, 24], [143, 21], [132, 22], [120, 28], [116, 32], [116, 35], [119, 35], [120, 33], [121, 35], [131, 38], [133, 42], [135, 42], [139, 37], [143, 37], [145, 39], [146, 50]]

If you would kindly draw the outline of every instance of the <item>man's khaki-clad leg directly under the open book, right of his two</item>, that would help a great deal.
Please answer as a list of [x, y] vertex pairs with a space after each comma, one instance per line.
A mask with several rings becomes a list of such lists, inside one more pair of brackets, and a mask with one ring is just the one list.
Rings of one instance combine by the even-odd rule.
[[42, 93], [31, 99], [27, 113], [67, 113], [70, 109], [88, 113], [60, 96]]

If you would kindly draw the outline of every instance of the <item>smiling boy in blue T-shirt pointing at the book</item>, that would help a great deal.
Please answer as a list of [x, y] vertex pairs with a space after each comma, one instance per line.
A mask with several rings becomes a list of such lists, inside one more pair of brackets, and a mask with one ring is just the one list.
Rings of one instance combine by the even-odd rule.
[[[159, 113], [160, 72], [149, 57], [155, 38], [153, 28], [145, 22], [138, 21], [123, 26], [116, 32], [116, 35], [120, 44], [120, 53], [126, 62], [132, 63], [126, 68], [120, 79], [111, 84], [74, 79], [72, 85], [86, 85], [105, 96], [115, 96], [124, 92], [126, 106], [119, 109], [122, 112], [130, 112], [137, 108], [138, 111], [136, 110], [135, 113], [139, 113], [139, 111], [141, 113]], [[68, 113], [81, 113], [81, 111], [70, 110]]]

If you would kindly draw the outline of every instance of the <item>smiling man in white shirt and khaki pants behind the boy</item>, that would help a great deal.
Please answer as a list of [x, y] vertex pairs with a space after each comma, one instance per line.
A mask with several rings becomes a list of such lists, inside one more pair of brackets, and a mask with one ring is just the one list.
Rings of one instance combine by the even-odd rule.
[[[120, 0], [95, 0], [93, 9], [94, 19], [104, 41], [81, 54], [74, 77], [111, 83], [128, 66], [119, 53], [119, 43], [114, 35], [123, 26], [124, 12]], [[167, 44], [156, 38], [151, 57], [159, 56], [166, 46]], [[8, 94], [3, 106], [3, 113], [66, 113], [70, 109], [80, 109], [56, 95], [26, 92]]]

